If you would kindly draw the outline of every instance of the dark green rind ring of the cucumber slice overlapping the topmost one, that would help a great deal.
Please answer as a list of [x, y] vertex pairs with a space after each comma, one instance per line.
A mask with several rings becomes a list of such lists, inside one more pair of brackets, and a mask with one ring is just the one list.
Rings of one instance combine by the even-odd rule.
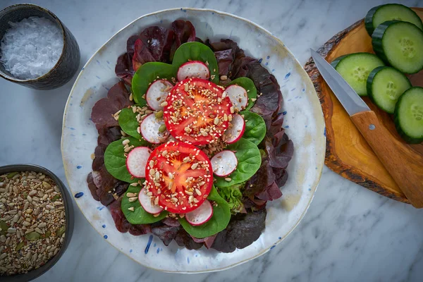
[[[389, 66], [393, 66], [393, 64], [391, 60], [389, 60], [385, 54], [384, 46], [383, 46], [383, 38], [384, 38], [384, 34], [386, 30], [388, 30], [389, 27], [391, 27], [392, 25], [395, 25], [396, 23], [401, 23], [401, 24], [417, 27], [416, 25], [412, 23], [403, 22], [400, 20], [388, 20], [384, 23], [381, 23], [378, 27], [376, 27], [376, 29], [374, 30], [372, 34], [372, 47], [373, 47], [374, 53], [376, 53], [376, 55], [379, 56], [379, 58], [382, 59], [382, 61], [384, 61]], [[417, 29], [420, 30], [418, 27]], [[420, 30], [420, 32], [422, 32], [422, 35], [423, 35], [423, 31]], [[423, 70], [423, 64], [419, 68], [411, 69], [411, 70], [405, 70], [401, 68], [400, 66], [393, 66], [393, 67], [403, 73], [418, 73], [419, 71]]]

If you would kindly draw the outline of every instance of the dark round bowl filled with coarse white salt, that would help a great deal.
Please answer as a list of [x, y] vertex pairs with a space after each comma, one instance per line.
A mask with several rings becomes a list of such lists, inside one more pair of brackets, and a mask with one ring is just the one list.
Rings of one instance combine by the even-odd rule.
[[40, 6], [18, 4], [1, 10], [0, 39], [0, 76], [11, 82], [50, 90], [71, 80], [79, 69], [75, 37], [54, 13]]

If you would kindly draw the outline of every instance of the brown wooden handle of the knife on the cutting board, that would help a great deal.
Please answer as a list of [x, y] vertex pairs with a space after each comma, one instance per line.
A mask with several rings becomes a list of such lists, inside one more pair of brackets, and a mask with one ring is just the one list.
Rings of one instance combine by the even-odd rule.
[[[405, 154], [407, 147], [379, 123], [374, 111], [362, 111], [351, 116], [351, 119], [407, 199], [414, 207], [422, 208], [423, 168], [410, 158], [410, 154]], [[416, 154], [416, 157], [421, 156]]]

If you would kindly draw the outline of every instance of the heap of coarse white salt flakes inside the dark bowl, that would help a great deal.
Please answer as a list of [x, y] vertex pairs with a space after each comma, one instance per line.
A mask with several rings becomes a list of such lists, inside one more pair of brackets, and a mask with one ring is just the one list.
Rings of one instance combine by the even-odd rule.
[[14, 77], [38, 78], [59, 61], [63, 35], [47, 18], [30, 17], [11, 23], [0, 46], [0, 62]]

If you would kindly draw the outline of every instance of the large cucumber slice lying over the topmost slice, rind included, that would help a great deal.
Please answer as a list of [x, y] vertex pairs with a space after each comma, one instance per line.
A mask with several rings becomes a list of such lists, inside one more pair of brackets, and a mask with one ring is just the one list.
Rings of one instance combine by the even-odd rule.
[[423, 69], [423, 31], [412, 23], [390, 20], [381, 23], [372, 35], [374, 52], [403, 73]]

